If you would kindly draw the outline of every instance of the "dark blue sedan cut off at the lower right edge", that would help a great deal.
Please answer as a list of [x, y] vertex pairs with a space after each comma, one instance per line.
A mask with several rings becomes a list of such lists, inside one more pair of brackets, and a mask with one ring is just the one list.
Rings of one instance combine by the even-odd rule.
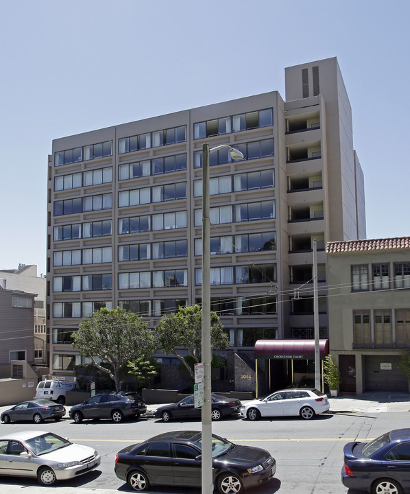
[[344, 486], [372, 494], [410, 492], [410, 429], [386, 432], [370, 443], [343, 448]]

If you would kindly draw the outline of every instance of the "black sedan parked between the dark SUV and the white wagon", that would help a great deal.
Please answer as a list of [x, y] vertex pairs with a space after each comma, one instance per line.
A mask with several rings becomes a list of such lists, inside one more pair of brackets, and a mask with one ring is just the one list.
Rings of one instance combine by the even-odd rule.
[[[231, 399], [222, 395], [212, 394], [212, 412], [213, 421], [218, 421], [222, 417], [229, 415], [239, 415], [241, 413], [242, 403], [239, 399]], [[201, 408], [194, 407], [193, 395], [174, 403], [173, 405], [164, 405], [155, 412], [157, 419], [169, 422], [172, 419], [200, 419]]]

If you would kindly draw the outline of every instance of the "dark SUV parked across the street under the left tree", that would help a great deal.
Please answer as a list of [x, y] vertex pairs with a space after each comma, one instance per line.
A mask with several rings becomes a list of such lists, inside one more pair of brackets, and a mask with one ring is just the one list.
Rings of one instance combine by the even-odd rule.
[[123, 419], [138, 418], [147, 411], [143, 397], [134, 392], [101, 393], [74, 405], [69, 415], [75, 423], [83, 419], [112, 419], [121, 422]]

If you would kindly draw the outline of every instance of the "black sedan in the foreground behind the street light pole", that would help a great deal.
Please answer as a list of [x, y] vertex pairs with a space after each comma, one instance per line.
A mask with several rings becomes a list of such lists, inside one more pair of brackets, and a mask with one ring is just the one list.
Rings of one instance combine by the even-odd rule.
[[[174, 431], [121, 449], [117, 477], [134, 491], [149, 486], [201, 487], [201, 432]], [[213, 483], [221, 494], [239, 494], [271, 479], [276, 461], [265, 449], [240, 446], [212, 435]]]

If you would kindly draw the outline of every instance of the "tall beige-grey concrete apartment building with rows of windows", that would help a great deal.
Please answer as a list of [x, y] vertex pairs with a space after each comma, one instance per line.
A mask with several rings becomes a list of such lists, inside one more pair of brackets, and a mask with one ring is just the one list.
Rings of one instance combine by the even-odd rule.
[[[202, 145], [210, 154], [211, 306], [228, 354], [256, 340], [313, 338], [313, 239], [365, 238], [361, 166], [336, 58], [285, 69], [278, 91], [53, 141], [48, 172], [47, 305], [51, 373], [81, 357], [70, 334], [99, 307], [150, 327], [201, 303]], [[326, 297], [319, 327], [328, 336]]]

